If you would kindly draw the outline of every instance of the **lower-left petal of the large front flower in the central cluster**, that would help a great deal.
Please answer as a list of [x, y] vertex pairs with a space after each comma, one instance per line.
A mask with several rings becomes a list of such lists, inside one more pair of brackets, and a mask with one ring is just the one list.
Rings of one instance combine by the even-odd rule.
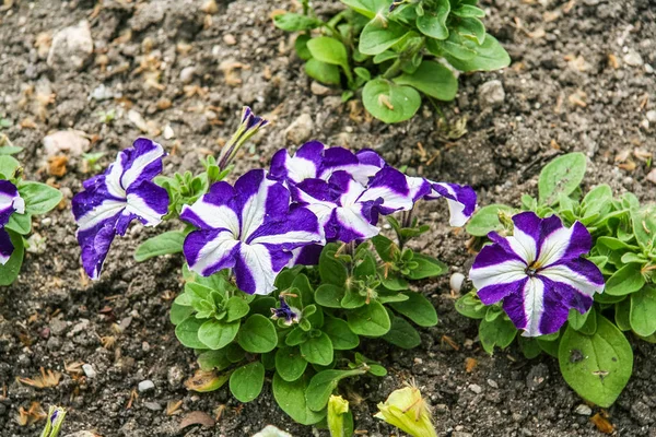
[[187, 235], [183, 251], [190, 270], [209, 276], [235, 265], [239, 245], [232, 231], [202, 229]]

